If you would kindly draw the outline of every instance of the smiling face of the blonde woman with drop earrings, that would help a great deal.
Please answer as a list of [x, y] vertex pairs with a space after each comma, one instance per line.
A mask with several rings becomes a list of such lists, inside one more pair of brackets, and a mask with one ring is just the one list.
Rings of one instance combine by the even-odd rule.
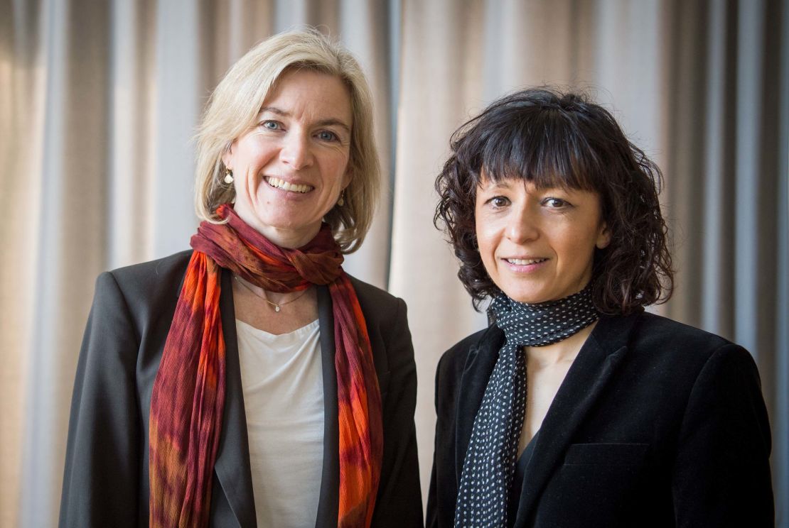
[[222, 157], [233, 171], [238, 216], [282, 247], [307, 244], [350, 182], [352, 126], [338, 77], [282, 74], [256, 124]]

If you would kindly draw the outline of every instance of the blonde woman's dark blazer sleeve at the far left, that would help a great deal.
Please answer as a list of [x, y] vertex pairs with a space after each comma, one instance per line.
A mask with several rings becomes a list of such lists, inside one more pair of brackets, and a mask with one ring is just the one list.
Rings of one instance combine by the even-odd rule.
[[[96, 280], [71, 402], [59, 526], [137, 526], [139, 337], [118, 282]], [[147, 504], [145, 505], [147, 508]]]

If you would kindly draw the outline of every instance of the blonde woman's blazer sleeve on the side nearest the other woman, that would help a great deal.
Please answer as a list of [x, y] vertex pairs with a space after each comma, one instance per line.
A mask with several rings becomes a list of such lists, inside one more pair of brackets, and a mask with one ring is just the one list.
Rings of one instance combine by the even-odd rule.
[[419, 485], [417, 434], [413, 413], [417, 405], [417, 366], [408, 328], [406, 303], [397, 299], [391, 322], [383, 332], [389, 363], [387, 395], [383, 401], [384, 456], [372, 526], [423, 526]]

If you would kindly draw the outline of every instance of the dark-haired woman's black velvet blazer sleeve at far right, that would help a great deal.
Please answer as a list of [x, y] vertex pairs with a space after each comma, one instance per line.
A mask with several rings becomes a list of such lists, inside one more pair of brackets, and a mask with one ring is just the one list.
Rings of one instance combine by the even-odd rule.
[[770, 428], [756, 364], [718, 348], [690, 392], [672, 476], [676, 526], [773, 526]]

